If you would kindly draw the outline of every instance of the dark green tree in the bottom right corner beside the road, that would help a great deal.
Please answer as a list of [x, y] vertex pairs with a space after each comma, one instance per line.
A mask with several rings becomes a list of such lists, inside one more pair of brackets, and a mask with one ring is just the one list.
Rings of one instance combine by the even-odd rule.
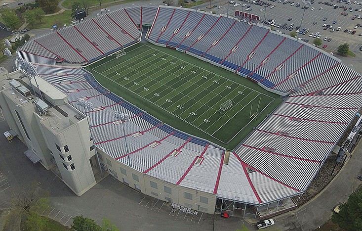
[[[339, 51], [338, 51], [339, 52]], [[339, 206], [339, 213], [332, 215], [332, 222], [344, 230], [361, 230], [362, 189], [353, 192], [346, 203]]]

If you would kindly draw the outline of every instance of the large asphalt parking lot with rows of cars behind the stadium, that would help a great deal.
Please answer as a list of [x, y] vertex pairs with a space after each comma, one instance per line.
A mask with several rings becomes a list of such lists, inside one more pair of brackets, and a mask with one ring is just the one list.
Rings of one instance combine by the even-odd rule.
[[[348, 43], [350, 45], [350, 50], [352, 50], [353, 52], [362, 52], [359, 51], [359, 47], [362, 45], [362, 36], [359, 36], [359, 34], [362, 33], [362, 27], [354, 28], [354, 26], [356, 26], [357, 24], [362, 24], [362, 19], [357, 18], [358, 15], [362, 15], [362, 12], [358, 11], [358, 9], [362, 10], [362, 5], [361, 5], [362, 2], [360, 2], [360, 4], [357, 4], [358, 2], [356, 2], [356, 4], [353, 2], [349, 4], [347, 0], [346, 2], [343, 1], [342, 3], [340, 3], [337, 0], [329, 0], [326, 1], [326, 3], [330, 5], [327, 5], [324, 3], [324, 1], [319, 1], [319, 0], [318, 1], [316, 0], [314, 2], [312, 1], [305, 2], [300, 0], [299, 1], [300, 6], [297, 7], [298, 0], [295, 1], [288, 0], [285, 2], [283, 1], [279, 2], [279, 0], [267, 1], [267, 3], [270, 3], [271, 5], [274, 4], [276, 5], [275, 7], [270, 8], [270, 6], [265, 7], [266, 4], [257, 5], [256, 3], [253, 4], [251, 2], [247, 2], [248, 0], [243, 0], [243, 1], [245, 2], [241, 3], [244, 4], [246, 3], [245, 6], [242, 6], [243, 4], [240, 4], [237, 7], [234, 7], [233, 4], [230, 4], [229, 15], [233, 15], [235, 10], [245, 11], [245, 9], [250, 5], [252, 10], [249, 12], [252, 14], [259, 15], [260, 21], [262, 21], [264, 15], [266, 21], [268, 21], [269, 19], [275, 19], [275, 25], [273, 26], [273, 29], [276, 31], [278, 30], [281, 31], [282, 33], [285, 33], [286, 35], [289, 35], [291, 31], [278, 28], [276, 25], [278, 24], [283, 25], [287, 23], [288, 24], [287, 28], [289, 28], [290, 24], [294, 24], [293, 31], [296, 30], [297, 26], [300, 26], [301, 29], [303, 28], [310, 29], [308, 33], [306, 33], [305, 35], [298, 34], [298, 38], [301, 38], [302, 40], [309, 40], [308, 41], [309, 44], [313, 44], [313, 40], [315, 39], [313, 38], [313, 36], [309, 37], [309, 35], [311, 33], [316, 34], [317, 32], [319, 32], [319, 35], [321, 35], [320, 38], [322, 39], [322, 46], [327, 45], [326, 47], [327, 51], [335, 52], [339, 45]], [[292, 4], [292, 2], [294, 2], [294, 4]], [[215, 10], [217, 10], [217, 13], [226, 14], [228, 10], [227, 4], [228, 3], [226, 1], [220, 2], [219, 5], [221, 5], [222, 7], [215, 8]], [[335, 8], [333, 4], [335, 4], [337, 8]], [[308, 8], [304, 9], [305, 6], [307, 6]], [[314, 7], [313, 10], [312, 7]], [[321, 7], [322, 9], [320, 9]], [[350, 12], [349, 9], [350, 7], [353, 8], [352, 12]], [[260, 11], [260, 9], [262, 8], [264, 8], [264, 10]], [[344, 8], [346, 8], [346, 10], [344, 10]], [[344, 13], [342, 14], [342, 12]], [[354, 17], [355, 15], [356, 18], [352, 20], [352, 17]], [[302, 17], [303, 17], [303, 22], [301, 24]], [[325, 21], [323, 21], [324, 18], [326, 18]], [[288, 21], [288, 19], [291, 20]], [[334, 21], [335, 23], [333, 23]], [[316, 23], [313, 24], [314, 22]], [[334, 30], [333, 32], [331, 32], [331, 29], [323, 30], [322, 25], [324, 23], [333, 26], [334, 29], [337, 29], [338, 27], [341, 27], [341, 29], [339, 31]], [[269, 25], [269, 27], [272, 26]], [[356, 33], [352, 35], [352, 33], [344, 32], [345, 29], [347, 29], [347, 31], [351, 30], [351, 32], [355, 30]], [[327, 39], [324, 41], [323, 39], [325, 37]], [[330, 39], [329, 42], [327, 42], [328, 39]]]

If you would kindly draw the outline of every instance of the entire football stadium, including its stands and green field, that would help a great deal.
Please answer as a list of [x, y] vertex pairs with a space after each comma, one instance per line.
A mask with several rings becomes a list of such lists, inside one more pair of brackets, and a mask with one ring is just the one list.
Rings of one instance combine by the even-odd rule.
[[[37, 155], [78, 195], [103, 171], [191, 211], [259, 219], [296, 208], [291, 198], [313, 181], [362, 101], [361, 75], [317, 47], [170, 6], [121, 8], [51, 31], [19, 49], [17, 68], [38, 95], [66, 99], [44, 99], [55, 109], [33, 115], [51, 152]], [[89, 118], [89, 129], [80, 127], [95, 154], [64, 160], [73, 133], [49, 141], [44, 129], [58, 127], [42, 121], [71, 115], [65, 106]], [[78, 123], [70, 117], [67, 126]], [[18, 132], [29, 145], [34, 126]]]

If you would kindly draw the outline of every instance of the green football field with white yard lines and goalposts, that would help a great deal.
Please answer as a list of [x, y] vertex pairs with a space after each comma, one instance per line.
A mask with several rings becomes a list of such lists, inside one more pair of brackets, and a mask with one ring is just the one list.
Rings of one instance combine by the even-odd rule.
[[226, 148], [240, 143], [282, 101], [241, 76], [172, 49], [143, 43], [125, 51], [86, 69], [170, 126]]

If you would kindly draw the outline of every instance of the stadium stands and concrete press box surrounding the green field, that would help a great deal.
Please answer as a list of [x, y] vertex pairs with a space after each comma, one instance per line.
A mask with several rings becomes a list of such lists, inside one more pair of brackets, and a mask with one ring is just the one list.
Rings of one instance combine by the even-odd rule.
[[[232, 151], [163, 124], [80, 67], [139, 43], [144, 29], [150, 43], [235, 72], [285, 101]], [[319, 48], [235, 18], [177, 7], [130, 7], [88, 19], [29, 41], [18, 59], [37, 73], [27, 81], [27, 68], [18, 62], [17, 72], [3, 75], [4, 117], [77, 195], [96, 184], [99, 164], [144, 194], [206, 213], [216, 205], [261, 218], [294, 208], [290, 198], [307, 189], [362, 102], [361, 75]], [[27, 102], [14, 98], [22, 96], [9, 79], [34, 89]], [[40, 94], [50, 106], [43, 115], [34, 103]], [[79, 99], [92, 107], [84, 113]], [[131, 120], [115, 118], [115, 111]]]

